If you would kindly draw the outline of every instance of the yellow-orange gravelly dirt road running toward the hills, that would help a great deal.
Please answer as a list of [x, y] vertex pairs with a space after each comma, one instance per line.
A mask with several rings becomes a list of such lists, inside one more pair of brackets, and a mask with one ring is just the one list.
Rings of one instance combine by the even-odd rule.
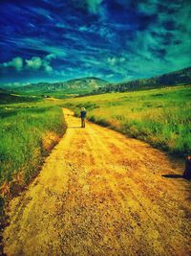
[[[149, 145], [80, 121], [10, 205], [8, 255], [190, 255], [183, 166]], [[174, 178], [162, 175], [174, 174]], [[176, 178], [177, 177], [177, 178]]]

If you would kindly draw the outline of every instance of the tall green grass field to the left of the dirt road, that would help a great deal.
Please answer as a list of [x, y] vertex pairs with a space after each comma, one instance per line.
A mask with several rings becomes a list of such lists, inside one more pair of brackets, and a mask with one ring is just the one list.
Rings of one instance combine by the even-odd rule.
[[66, 128], [62, 109], [53, 103], [25, 103], [0, 107], [1, 194], [14, 193], [39, 171], [43, 157]]

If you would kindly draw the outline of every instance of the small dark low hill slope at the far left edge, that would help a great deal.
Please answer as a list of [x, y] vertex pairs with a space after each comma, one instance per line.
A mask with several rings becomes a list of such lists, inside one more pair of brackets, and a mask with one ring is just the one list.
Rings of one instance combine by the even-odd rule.
[[0, 88], [0, 105], [13, 104], [13, 103], [23, 103], [23, 102], [33, 102], [37, 98], [23, 97], [9, 92], [5, 89]]

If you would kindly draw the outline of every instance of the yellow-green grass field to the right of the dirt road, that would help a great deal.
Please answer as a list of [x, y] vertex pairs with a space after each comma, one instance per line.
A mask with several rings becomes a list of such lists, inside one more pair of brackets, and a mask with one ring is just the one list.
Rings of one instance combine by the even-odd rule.
[[65, 101], [79, 115], [171, 153], [191, 153], [191, 87], [110, 93]]

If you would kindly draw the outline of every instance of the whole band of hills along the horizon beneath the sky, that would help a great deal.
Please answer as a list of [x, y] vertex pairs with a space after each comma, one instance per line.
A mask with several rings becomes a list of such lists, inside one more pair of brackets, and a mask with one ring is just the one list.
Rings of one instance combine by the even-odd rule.
[[125, 92], [142, 89], [161, 88], [191, 83], [191, 67], [163, 74], [149, 79], [111, 83], [96, 77], [86, 77], [70, 81], [38, 82], [22, 86], [4, 87], [22, 95], [53, 96], [68, 98], [71, 96], [99, 94], [107, 92]]

